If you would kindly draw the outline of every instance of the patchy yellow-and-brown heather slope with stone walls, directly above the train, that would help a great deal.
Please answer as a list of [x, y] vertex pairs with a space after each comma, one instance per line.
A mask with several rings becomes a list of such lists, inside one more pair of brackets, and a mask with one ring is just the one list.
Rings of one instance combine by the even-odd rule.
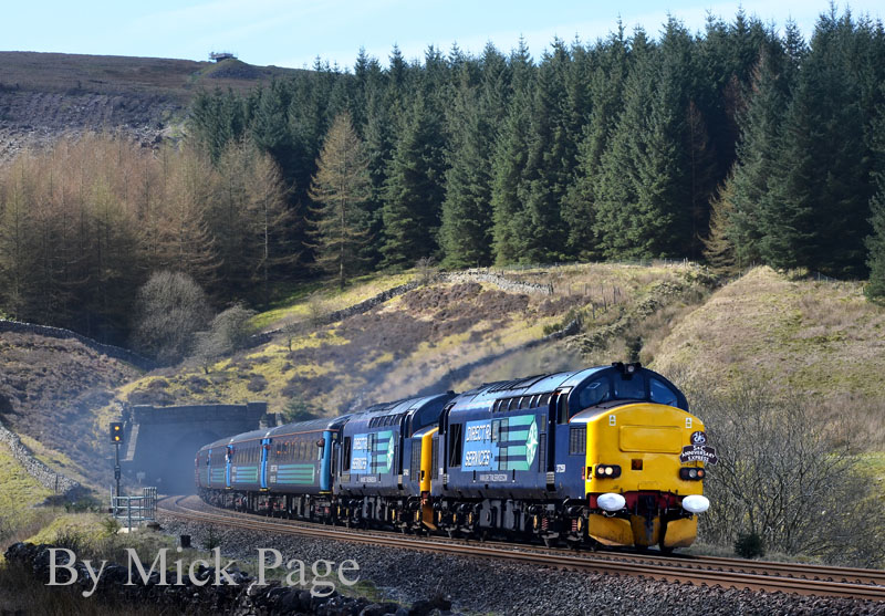
[[[611, 353], [624, 358], [629, 326], [675, 305], [684, 310], [686, 302], [704, 296], [698, 271], [693, 265], [591, 264], [504, 272], [510, 281], [552, 286], [552, 294], [456, 278], [337, 323], [309, 326], [312, 314], [353, 305], [410, 276], [371, 279], [345, 293], [301, 296], [256, 317], [264, 330], [303, 321], [308, 325], [296, 335], [279, 334], [270, 344], [208, 369], [152, 373], [121, 388], [118, 399], [267, 399], [277, 411], [292, 407], [334, 415], [420, 390], [462, 389], [517, 374], [579, 367], [587, 361], [582, 354], [610, 362]], [[576, 319], [583, 323], [581, 336], [531, 346]]]

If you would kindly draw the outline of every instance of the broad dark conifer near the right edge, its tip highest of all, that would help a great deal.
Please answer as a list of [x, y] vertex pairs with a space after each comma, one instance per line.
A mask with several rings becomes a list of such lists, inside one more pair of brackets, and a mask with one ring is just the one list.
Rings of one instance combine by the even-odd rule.
[[848, 17], [822, 15], [803, 60], [762, 203], [762, 257], [782, 268], [836, 276], [865, 272], [871, 155], [865, 109], [850, 70], [856, 39]]

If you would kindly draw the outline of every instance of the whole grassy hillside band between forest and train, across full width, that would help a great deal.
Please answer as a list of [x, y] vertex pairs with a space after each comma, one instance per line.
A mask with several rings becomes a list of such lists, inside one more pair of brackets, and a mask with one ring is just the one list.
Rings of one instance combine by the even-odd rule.
[[[107, 456], [105, 428], [124, 404], [267, 400], [289, 416], [335, 415], [420, 391], [641, 359], [677, 380], [726, 388], [754, 377], [808, 393], [878, 439], [874, 449], [885, 442], [877, 377], [885, 310], [865, 302], [860, 284], [757, 269], [717, 289], [688, 263], [491, 273], [499, 278], [419, 285], [329, 324], [319, 323], [418, 274], [366, 276], [344, 292], [305, 285], [254, 317], [257, 330], [277, 332], [268, 344], [149, 374], [76, 342], [2, 334], [0, 419], [50, 467], [103, 486], [104, 470], [87, 460]], [[542, 342], [566, 326], [569, 335]]]

